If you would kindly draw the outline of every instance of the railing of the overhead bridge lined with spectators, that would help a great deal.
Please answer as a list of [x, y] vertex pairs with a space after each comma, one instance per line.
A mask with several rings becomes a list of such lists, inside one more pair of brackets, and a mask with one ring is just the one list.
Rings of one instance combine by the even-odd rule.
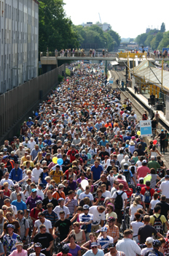
[[[95, 50], [95, 53], [89, 53], [87, 51], [75, 51], [73, 52], [64, 52], [64, 53], [60, 53], [60, 52], [41, 52], [40, 53], [41, 57], [103, 57], [103, 53], [98, 52], [97, 50]], [[105, 53], [104, 57], [117, 57], [117, 53]]]

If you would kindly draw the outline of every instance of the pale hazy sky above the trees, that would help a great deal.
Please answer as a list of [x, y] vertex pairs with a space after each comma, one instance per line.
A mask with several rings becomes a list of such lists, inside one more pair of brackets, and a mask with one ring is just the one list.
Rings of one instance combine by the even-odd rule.
[[[97, 22], [98, 12], [101, 15], [101, 22], [109, 23], [120, 37], [137, 37], [138, 34], [146, 32], [165, 23], [166, 31], [169, 30], [168, 7], [169, 1], [152, 0], [63, 0], [66, 4], [64, 9], [66, 15], [71, 18], [74, 25], [87, 22]], [[166, 8], [166, 13], [165, 13]]]

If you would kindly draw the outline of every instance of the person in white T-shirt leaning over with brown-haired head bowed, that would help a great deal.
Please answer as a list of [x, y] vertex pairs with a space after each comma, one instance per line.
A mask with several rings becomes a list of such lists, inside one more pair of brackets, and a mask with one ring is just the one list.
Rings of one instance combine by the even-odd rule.
[[99, 230], [100, 224], [101, 224], [101, 227], [103, 227], [104, 221], [105, 221], [104, 206], [91, 206], [89, 209], [89, 214], [93, 214], [93, 222], [92, 222], [91, 232], [93, 232], [93, 230]]

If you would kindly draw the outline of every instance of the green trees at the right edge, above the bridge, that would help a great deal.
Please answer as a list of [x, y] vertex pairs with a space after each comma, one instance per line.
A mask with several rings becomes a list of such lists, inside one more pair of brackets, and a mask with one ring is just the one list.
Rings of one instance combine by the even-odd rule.
[[139, 34], [135, 38], [140, 46], [149, 46], [152, 50], [162, 50], [162, 48], [169, 48], [169, 31], [165, 32], [165, 24], [162, 23], [160, 31], [151, 29], [149, 33]]

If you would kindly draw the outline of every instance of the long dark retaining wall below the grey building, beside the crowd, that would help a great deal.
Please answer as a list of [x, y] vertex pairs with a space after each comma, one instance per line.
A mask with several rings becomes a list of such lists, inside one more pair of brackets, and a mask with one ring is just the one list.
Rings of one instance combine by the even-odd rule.
[[20, 125], [28, 116], [32, 116], [32, 111], [58, 84], [58, 75], [62, 75], [65, 69], [63, 64], [0, 95], [0, 145], [19, 132]]

